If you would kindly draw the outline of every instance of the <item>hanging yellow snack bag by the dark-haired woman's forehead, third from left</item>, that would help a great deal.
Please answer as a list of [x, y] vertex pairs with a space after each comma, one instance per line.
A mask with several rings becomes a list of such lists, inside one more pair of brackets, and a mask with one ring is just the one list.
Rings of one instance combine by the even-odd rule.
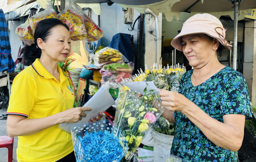
[[75, 4], [75, 0], [70, 0], [70, 3], [58, 16], [59, 20], [68, 25], [71, 40], [78, 41], [87, 38], [86, 27], [84, 26], [84, 12]]

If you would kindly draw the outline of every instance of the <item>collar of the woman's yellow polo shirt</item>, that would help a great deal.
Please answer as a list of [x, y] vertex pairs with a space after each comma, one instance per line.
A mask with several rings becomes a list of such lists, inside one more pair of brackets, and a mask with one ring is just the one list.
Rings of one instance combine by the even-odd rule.
[[[38, 75], [40, 75], [41, 77], [44, 77], [45, 79], [54, 79], [55, 77], [52, 76], [52, 74], [50, 74], [44, 66], [42, 66], [42, 64], [39, 62], [39, 59], [36, 59], [34, 63], [32, 63], [32, 68], [35, 70], [36, 73], [38, 73]], [[65, 80], [67, 79], [69, 76], [65, 75], [62, 71], [62, 68], [59, 67], [58, 65], [58, 71], [60, 74], [60, 80]]]

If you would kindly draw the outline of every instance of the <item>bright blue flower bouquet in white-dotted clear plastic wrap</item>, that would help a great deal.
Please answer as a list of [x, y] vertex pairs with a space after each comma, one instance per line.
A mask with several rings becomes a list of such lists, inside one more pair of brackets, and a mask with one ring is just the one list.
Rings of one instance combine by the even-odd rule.
[[114, 131], [108, 120], [76, 124], [71, 134], [77, 162], [118, 162], [128, 150], [123, 133]]

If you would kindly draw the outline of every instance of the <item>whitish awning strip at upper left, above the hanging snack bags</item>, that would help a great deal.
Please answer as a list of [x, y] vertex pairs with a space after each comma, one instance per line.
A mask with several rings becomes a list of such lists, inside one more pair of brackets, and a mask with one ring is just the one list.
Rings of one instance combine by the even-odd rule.
[[22, 17], [22, 16], [29, 15], [31, 8], [37, 9], [36, 12], [38, 12], [41, 7], [40, 7], [40, 4], [38, 2], [33, 2], [33, 3], [30, 3], [30, 4], [24, 5], [23, 7], [17, 8], [15, 10], [12, 10], [12, 11], [9, 11], [9, 12], [6, 12], [4, 14], [5, 19], [6, 19], [6, 21], [10, 21], [10, 20], [13, 20], [15, 18], [19, 18], [19, 17]]

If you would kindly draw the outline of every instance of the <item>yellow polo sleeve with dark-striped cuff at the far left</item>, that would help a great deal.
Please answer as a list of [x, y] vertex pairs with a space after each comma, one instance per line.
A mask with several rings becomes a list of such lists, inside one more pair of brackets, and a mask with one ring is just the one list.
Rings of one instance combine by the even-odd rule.
[[21, 115], [28, 118], [35, 103], [35, 82], [31, 76], [19, 74], [11, 86], [7, 115]]

